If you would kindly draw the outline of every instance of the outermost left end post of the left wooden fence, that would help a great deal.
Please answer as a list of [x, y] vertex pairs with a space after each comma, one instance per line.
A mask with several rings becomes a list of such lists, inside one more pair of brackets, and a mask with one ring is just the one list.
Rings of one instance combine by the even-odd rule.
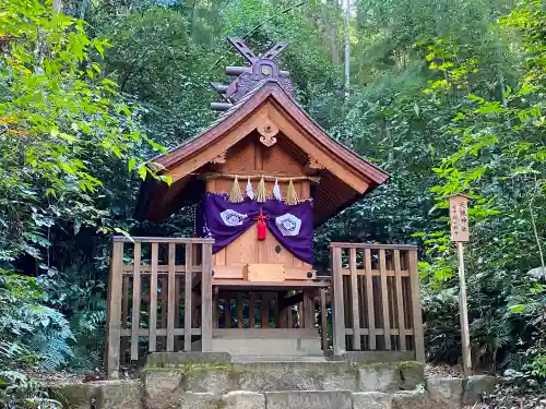
[[106, 324], [106, 375], [119, 377], [119, 345], [121, 337], [121, 276], [123, 242], [115, 241], [111, 249], [110, 276], [108, 277], [108, 317]]

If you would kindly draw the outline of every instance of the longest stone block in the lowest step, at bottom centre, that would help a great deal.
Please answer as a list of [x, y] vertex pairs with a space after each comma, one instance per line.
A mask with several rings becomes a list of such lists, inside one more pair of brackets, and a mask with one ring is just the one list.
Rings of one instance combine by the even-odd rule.
[[352, 409], [349, 390], [301, 390], [265, 393], [268, 409]]

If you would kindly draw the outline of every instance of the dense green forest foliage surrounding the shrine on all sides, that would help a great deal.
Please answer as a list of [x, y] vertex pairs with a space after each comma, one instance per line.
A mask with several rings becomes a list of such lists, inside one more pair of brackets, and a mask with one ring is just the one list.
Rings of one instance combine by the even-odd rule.
[[139, 183], [153, 141], [176, 146], [214, 119], [207, 83], [241, 63], [225, 43], [237, 35], [256, 51], [288, 40], [280, 64], [301, 106], [392, 176], [317, 231], [317, 267], [332, 240], [423, 244], [427, 353], [456, 362], [443, 196], [466, 192], [474, 356], [544, 375], [544, 281], [527, 274], [546, 236], [542, 2], [358, 1], [348, 98], [336, 1], [63, 3], [0, 5], [0, 363], [99, 366], [104, 233], [188, 233], [187, 209], [162, 225], [132, 218]]

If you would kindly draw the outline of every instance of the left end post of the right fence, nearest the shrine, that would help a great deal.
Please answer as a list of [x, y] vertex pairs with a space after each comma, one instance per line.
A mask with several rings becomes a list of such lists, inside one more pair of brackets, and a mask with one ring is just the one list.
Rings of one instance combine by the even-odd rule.
[[334, 246], [332, 255], [332, 327], [334, 356], [346, 352], [345, 345], [345, 314], [343, 311], [343, 276], [341, 248]]

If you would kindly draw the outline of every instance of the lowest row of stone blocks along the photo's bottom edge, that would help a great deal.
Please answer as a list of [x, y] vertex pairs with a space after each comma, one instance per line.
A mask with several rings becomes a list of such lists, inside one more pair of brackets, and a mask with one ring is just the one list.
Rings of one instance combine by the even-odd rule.
[[462, 409], [492, 393], [495, 378], [430, 377], [424, 388], [392, 393], [343, 388], [213, 393], [187, 389], [178, 381], [156, 386], [161, 387], [143, 387], [139, 381], [67, 384], [51, 387], [50, 397], [68, 409]]

